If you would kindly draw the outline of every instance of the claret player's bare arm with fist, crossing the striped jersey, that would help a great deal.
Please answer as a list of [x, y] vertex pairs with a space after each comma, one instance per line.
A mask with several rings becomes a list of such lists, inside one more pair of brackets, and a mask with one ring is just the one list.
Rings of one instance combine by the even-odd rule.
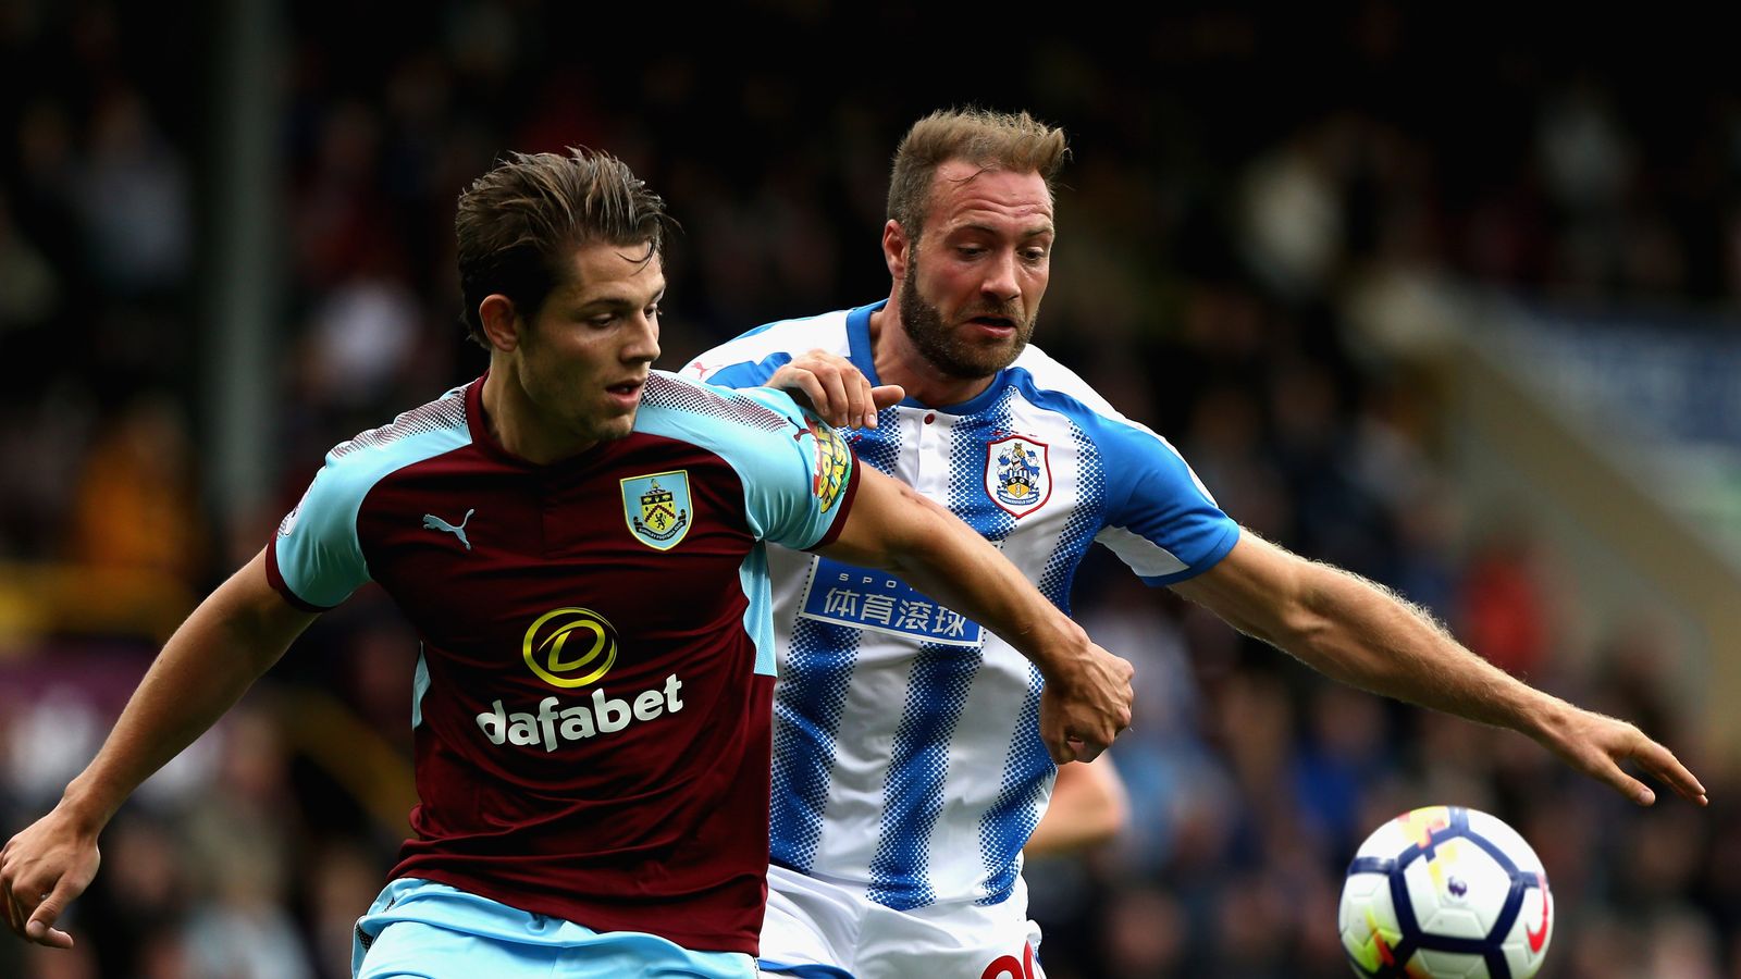
[[1039, 735], [1053, 761], [1088, 761], [1112, 744], [1130, 725], [1130, 664], [1092, 643], [954, 514], [870, 467], [858, 481], [839, 537], [817, 552], [897, 571], [1032, 660], [1046, 679]]

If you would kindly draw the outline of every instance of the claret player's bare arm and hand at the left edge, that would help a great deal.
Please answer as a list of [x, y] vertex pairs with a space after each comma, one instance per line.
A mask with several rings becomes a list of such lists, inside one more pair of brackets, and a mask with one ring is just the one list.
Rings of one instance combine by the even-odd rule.
[[96, 876], [97, 834], [115, 810], [218, 723], [313, 618], [272, 591], [265, 552], [193, 610], [59, 805], [0, 850], [0, 904], [14, 934], [52, 948], [73, 946], [73, 937], [54, 923]]

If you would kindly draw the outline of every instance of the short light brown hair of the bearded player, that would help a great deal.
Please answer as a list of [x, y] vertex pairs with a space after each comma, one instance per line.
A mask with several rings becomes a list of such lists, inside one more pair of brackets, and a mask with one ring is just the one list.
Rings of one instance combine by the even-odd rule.
[[1032, 115], [982, 108], [937, 110], [912, 124], [888, 178], [888, 216], [912, 237], [924, 228], [937, 167], [966, 160], [982, 169], [1038, 172], [1052, 193], [1069, 146], [1064, 131]]

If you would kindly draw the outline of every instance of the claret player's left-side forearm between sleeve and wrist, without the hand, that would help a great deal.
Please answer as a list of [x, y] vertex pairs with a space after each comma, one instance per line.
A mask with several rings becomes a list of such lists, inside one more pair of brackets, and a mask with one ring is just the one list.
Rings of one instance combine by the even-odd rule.
[[193, 744], [284, 655], [312, 617], [277, 596], [263, 599], [266, 587], [256, 559], [176, 629], [97, 756], [66, 786], [61, 808], [75, 822], [99, 831], [145, 779]]

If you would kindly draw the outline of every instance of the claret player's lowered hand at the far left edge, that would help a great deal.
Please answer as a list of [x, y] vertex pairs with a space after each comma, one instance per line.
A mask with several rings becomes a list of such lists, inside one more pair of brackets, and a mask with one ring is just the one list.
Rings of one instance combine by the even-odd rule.
[[49, 948], [73, 948], [54, 927], [61, 911], [97, 876], [96, 833], [80, 829], [59, 808], [7, 840], [0, 850], [0, 904], [12, 934]]

